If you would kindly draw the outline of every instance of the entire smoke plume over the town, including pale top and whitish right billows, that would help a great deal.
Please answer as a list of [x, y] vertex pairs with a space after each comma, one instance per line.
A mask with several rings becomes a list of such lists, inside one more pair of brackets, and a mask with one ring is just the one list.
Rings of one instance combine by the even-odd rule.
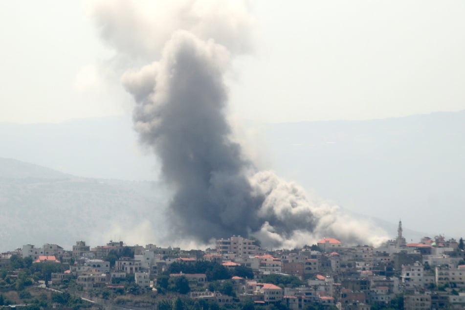
[[[149, 14], [152, 12], [154, 15]], [[253, 19], [240, 1], [184, 1], [143, 9], [133, 2], [94, 5], [102, 39], [129, 67], [122, 84], [136, 102], [134, 129], [161, 163], [172, 190], [173, 239], [256, 236], [293, 247], [331, 236], [377, 243], [382, 232], [339, 212], [271, 171], [259, 171], [234, 141], [224, 76], [250, 52]], [[317, 184], [315, 184], [317, 187]]]

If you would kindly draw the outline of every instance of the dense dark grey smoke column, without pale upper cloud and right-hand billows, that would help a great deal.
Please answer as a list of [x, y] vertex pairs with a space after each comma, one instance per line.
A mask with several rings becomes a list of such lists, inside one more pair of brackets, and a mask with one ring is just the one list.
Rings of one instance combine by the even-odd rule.
[[269, 193], [252, 188], [248, 175], [256, 169], [229, 138], [227, 60], [222, 46], [179, 31], [160, 62], [139, 73], [153, 79], [150, 91], [137, 73], [123, 79], [137, 101], [133, 119], [140, 140], [160, 158], [162, 176], [175, 192], [169, 207], [173, 233], [207, 242], [247, 236], [264, 221], [284, 235], [296, 228], [311, 231], [311, 212], [295, 221], [283, 221], [273, 210], [259, 214]]

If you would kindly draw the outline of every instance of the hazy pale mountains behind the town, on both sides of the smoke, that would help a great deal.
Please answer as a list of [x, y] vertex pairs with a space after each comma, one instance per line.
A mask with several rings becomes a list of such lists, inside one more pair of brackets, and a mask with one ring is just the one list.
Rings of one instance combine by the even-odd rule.
[[[386, 224], [379, 225], [393, 237], [399, 219], [408, 241], [422, 235], [414, 231], [465, 235], [465, 111], [372, 121], [248, 122], [243, 131], [247, 152], [261, 169], [275, 170], [347, 211], [383, 219]], [[1, 249], [53, 242], [47, 236], [65, 245], [90, 241], [93, 231], [98, 240], [117, 239], [124, 225], [159, 217], [169, 196], [155, 182], [158, 164], [138, 146], [130, 118], [0, 123], [0, 143], [0, 157], [24, 161], [0, 161]], [[111, 229], [102, 228], [107, 224]], [[148, 226], [141, 225], [159, 233]], [[3, 245], [5, 240], [11, 243]]]

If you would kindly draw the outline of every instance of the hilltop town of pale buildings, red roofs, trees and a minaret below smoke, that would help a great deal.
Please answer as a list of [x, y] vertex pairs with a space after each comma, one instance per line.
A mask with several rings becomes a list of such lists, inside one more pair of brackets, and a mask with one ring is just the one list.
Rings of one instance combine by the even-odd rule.
[[0, 265], [0, 305], [26, 309], [465, 308], [463, 239], [409, 244], [400, 221], [378, 248], [334, 238], [273, 251], [241, 236], [204, 251], [78, 241], [26, 244]]

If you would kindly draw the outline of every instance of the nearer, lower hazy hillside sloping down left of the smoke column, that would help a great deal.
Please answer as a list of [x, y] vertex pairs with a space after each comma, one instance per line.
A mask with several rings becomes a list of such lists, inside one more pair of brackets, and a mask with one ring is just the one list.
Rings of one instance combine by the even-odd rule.
[[0, 250], [44, 243], [70, 248], [78, 240], [129, 241], [141, 229], [153, 237], [145, 220], [157, 222], [160, 195], [151, 182], [74, 177], [1, 158]]

